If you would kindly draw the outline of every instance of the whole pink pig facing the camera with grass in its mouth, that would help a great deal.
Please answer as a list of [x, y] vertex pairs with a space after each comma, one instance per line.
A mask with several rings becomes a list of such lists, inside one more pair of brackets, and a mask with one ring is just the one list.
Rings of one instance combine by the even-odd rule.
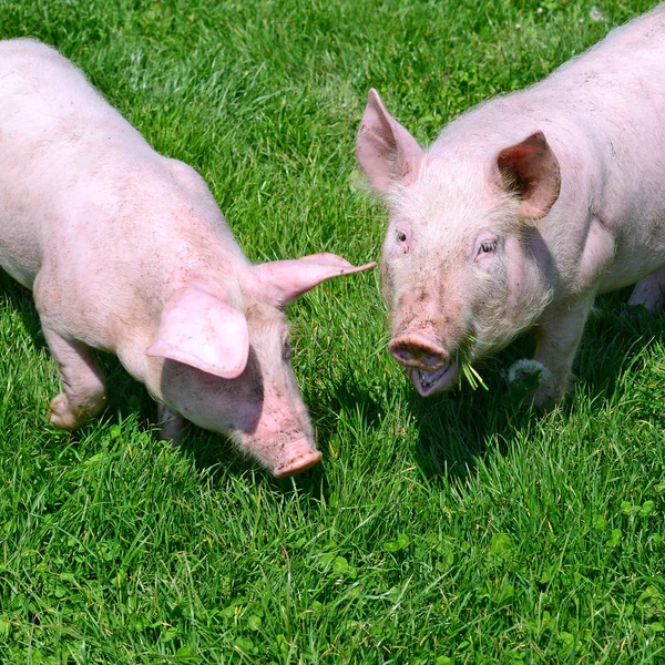
[[631, 303], [663, 306], [665, 6], [428, 150], [372, 90], [357, 154], [388, 204], [389, 346], [417, 390], [534, 328], [545, 403], [566, 389], [596, 294], [644, 278]]

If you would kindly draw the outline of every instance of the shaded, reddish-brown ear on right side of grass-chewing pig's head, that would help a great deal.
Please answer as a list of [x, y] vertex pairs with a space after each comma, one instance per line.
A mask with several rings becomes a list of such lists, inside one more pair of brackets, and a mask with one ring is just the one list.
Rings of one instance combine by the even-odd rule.
[[559, 198], [561, 171], [542, 132], [503, 149], [497, 165], [505, 190], [520, 198], [518, 211], [521, 215], [540, 219], [550, 212]]

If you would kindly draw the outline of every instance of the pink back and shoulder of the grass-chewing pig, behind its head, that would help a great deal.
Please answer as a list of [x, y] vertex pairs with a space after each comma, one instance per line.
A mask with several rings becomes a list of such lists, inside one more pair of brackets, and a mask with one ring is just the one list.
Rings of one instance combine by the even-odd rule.
[[561, 167], [561, 193], [539, 232], [570, 273], [566, 265], [581, 260], [596, 218], [614, 244], [601, 290], [665, 263], [663, 35], [665, 6], [612, 31], [542, 82], [463, 114], [430, 151], [490, 163], [542, 131]]

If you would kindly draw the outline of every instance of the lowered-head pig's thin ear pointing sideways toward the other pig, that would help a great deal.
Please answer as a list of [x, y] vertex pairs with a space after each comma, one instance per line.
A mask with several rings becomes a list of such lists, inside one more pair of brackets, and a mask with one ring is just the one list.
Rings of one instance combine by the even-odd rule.
[[374, 268], [375, 262], [352, 266], [335, 254], [311, 254], [293, 260], [273, 260], [253, 267], [256, 293], [276, 307], [293, 303], [298, 296], [331, 277]]

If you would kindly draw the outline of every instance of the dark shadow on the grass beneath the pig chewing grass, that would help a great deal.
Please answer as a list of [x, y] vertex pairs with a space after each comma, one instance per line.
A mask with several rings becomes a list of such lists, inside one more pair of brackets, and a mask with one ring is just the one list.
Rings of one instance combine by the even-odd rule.
[[[632, 288], [632, 287], [631, 287]], [[602, 296], [586, 325], [574, 365], [569, 412], [575, 388], [584, 386], [593, 410], [600, 410], [617, 389], [617, 380], [649, 340], [665, 341], [665, 315], [628, 309], [631, 288]], [[515, 360], [531, 357], [534, 341], [524, 335], [479, 367], [489, 390], [462, 385], [424, 400], [413, 391], [410, 408], [419, 428], [416, 459], [426, 478], [463, 483], [479, 460], [492, 452], [505, 454], [508, 442], [528, 434], [539, 418], [535, 409], [509, 387], [505, 374]]]

